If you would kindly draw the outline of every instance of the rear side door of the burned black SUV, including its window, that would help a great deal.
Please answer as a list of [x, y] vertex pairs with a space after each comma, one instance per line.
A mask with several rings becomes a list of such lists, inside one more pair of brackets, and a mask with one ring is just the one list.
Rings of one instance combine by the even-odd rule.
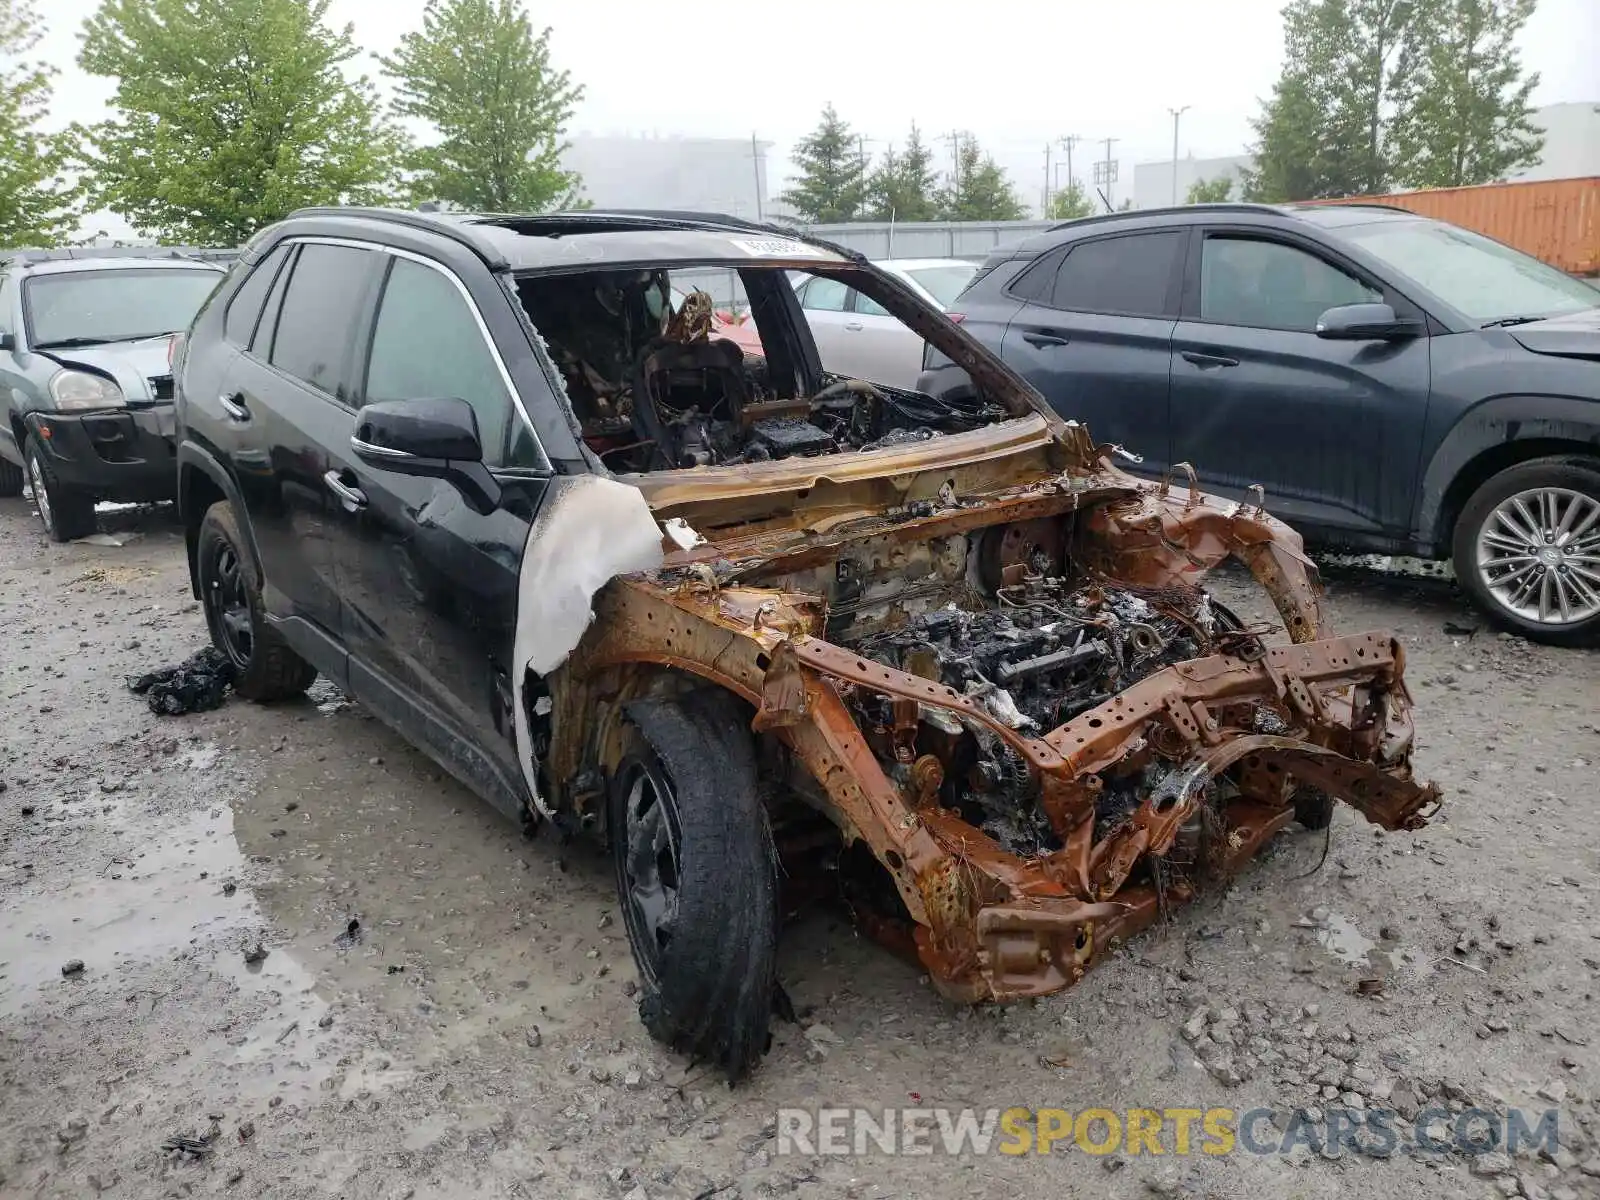
[[258, 267], [278, 262], [248, 346], [224, 374], [214, 403], [226, 419], [214, 437], [250, 517], [267, 611], [296, 622], [291, 637], [318, 669], [334, 674], [333, 662], [317, 661], [317, 646], [323, 658], [338, 653], [341, 634], [330, 541], [338, 507], [326, 483], [326, 446], [350, 437], [352, 347], [381, 258], [323, 242], [280, 253], [280, 262], [274, 254]]

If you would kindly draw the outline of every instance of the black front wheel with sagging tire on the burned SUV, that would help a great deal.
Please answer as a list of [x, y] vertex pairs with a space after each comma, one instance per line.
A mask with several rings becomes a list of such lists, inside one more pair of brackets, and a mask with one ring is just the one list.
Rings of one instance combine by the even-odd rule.
[[651, 1037], [738, 1082], [766, 1053], [778, 854], [757, 794], [749, 712], [726, 693], [627, 707], [611, 858]]

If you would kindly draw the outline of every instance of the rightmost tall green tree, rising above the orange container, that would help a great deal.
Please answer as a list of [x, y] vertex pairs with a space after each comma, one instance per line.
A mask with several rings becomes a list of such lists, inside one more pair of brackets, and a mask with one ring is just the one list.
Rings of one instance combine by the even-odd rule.
[[1430, 0], [1422, 51], [1394, 123], [1395, 174], [1408, 187], [1464, 187], [1539, 162], [1530, 120], [1539, 83], [1517, 35], [1534, 0]]

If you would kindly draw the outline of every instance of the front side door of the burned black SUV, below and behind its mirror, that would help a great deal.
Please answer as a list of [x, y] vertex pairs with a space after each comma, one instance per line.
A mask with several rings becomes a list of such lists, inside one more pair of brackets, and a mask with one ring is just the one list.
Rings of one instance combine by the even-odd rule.
[[480, 512], [445, 480], [360, 461], [349, 430], [330, 443], [350, 688], [494, 795], [518, 773], [506, 669], [522, 552], [549, 464], [461, 280], [419, 256], [384, 258], [371, 333], [362, 339], [362, 402], [466, 400], [506, 494]]

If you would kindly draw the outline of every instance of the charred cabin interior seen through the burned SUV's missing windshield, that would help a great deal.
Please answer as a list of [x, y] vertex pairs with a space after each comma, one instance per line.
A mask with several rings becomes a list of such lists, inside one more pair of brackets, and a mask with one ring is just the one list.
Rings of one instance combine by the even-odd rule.
[[538, 277], [522, 280], [518, 296], [584, 443], [621, 474], [880, 450], [1006, 416], [981, 398], [936, 400], [840, 376], [802, 395], [766, 354], [720, 336], [707, 293], [680, 293], [674, 306], [666, 270]]

